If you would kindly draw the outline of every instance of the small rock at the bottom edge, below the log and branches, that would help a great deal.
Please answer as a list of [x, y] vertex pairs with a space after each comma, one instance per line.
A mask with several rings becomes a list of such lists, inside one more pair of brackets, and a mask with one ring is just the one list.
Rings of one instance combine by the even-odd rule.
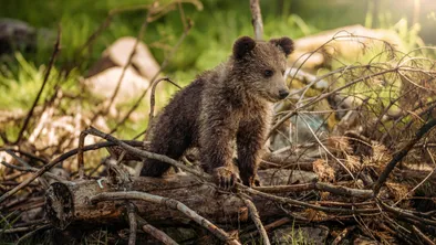
[[271, 242], [274, 244], [325, 244], [328, 236], [326, 226], [284, 226], [274, 231]]

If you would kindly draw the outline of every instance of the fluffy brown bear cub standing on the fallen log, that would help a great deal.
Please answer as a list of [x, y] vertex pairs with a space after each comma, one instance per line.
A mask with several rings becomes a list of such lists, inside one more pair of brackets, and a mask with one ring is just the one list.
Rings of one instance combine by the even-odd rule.
[[[154, 121], [150, 151], [178, 159], [198, 146], [205, 171], [221, 188], [233, 187], [233, 142], [239, 175], [257, 184], [257, 168], [272, 116], [272, 103], [289, 95], [284, 70], [293, 51], [289, 38], [269, 42], [243, 36], [231, 57], [178, 92]], [[141, 175], [160, 177], [169, 164], [146, 159]]]

